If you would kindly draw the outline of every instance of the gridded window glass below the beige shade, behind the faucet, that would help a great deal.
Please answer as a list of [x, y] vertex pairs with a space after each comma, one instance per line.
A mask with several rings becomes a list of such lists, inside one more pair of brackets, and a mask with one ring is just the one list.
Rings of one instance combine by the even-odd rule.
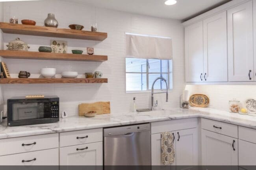
[[154, 80], [158, 80], [154, 89], [166, 90], [173, 88], [173, 60], [126, 58], [126, 91], [147, 91], [151, 90]]

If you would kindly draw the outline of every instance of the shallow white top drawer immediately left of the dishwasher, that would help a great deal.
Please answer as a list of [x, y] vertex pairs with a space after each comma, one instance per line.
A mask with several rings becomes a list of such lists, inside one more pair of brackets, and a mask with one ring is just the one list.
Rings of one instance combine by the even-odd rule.
[[79, 130], [73, 132], [63, 132], [59, 135], [60, 147], [72, 146], [78, 144], [94, 143], [103, 141], [102, 128], [90, 129], [90, 130]]

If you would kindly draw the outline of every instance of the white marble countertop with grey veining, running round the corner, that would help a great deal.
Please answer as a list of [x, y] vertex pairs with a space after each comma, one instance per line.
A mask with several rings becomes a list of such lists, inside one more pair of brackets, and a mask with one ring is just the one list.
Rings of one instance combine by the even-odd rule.
[[2, 122], [0, 124], [0, 139], [192, 117], [203, 117], [256, 129], [256, 117], [249, 115], [239, 115], [237, 113], [229, 113], [211, 108], [191, 108], [189, 110], [178, 108], [173, 110], [127, 113], [123, 115], [96, 115], [93, 118], [69, 117], [60, 119], [57, 123], [30, 126], [7, 127], [6, 122]]

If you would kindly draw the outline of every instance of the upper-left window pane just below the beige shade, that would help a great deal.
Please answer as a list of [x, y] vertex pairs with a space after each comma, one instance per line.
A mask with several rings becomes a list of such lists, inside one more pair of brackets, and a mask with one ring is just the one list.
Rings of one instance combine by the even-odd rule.
[[126, 58], [126, 72], [147, 72], [147, 60], [141, 58]]

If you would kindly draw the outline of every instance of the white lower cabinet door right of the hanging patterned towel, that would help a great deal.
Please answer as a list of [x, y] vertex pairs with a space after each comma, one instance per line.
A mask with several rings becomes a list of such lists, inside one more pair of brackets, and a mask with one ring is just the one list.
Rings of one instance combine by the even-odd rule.
[[176, 131], [176, 165], [198, 165], [198, 129]]

